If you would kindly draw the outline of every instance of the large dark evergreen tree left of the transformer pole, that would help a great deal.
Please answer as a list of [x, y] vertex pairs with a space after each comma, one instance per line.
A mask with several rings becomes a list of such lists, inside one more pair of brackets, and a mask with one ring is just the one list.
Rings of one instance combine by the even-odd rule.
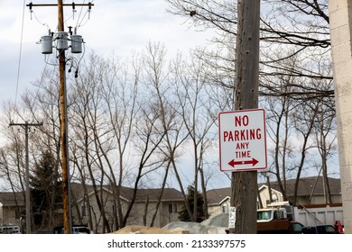
[[46, 151], [30, 177], [32, 215], [37, 229], [51, 229], [54, 225], [55, 210], [62, 202], [58, 178], [57, 160], [51, 151]]

